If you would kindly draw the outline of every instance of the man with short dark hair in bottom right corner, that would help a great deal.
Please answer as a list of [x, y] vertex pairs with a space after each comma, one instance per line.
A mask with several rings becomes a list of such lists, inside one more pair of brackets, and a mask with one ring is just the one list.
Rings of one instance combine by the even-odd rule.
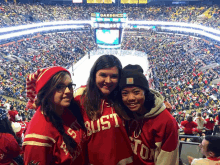
[[201, 153], [206, 158], [193, 158], [188, 156], [191, 165], [219, 165], [220, 164], [220, 137], [206, 135], [200, 144]]

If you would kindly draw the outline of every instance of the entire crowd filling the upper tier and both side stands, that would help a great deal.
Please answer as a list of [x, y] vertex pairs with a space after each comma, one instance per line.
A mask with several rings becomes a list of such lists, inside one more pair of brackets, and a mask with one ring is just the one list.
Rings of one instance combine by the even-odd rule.
[[[0, 4], [2, 27], [58, 20], [89, 20], [93, 12], [127, 13], [129, 20], [179, 21], [219, 28], [219, 6], [100, 7], [52, 6], [43, 4]], [[144, 31], [141, 36], [125, 32], [123, 50], [148, 54], [152, 86], [172, 105], [179, 123], [185, 110], [217, 115], [219, 109], [220, 49], [214, 42], [187, 35]], [[12, 39], [13, 41], [13, 39]], [[25, 110], [25, 78], [38, 68], [60, 65], [69, 68], [87, 52], [97, 49], [92, 31], [35, 34], [0, 47], [1, 102]], [[6, 56], [16, 56], [14, 61]], [[6, 97], [4, 97], [6, 96]]]

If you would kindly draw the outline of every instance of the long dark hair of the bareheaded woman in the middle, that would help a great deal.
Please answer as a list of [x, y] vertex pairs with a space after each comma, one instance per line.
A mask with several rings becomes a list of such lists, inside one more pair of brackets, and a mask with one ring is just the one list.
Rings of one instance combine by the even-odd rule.
[[[118, 74], [119, 74], [118, 81], [119, 81], [121, 77], [122, 65], [119, 59], [114, 55], [100, 56], [96, 60], [90, 71], [90, 75], [87, 81], [87, 86], [81, 96], [81, 99], [84, 100], [83, 106], [86, 110], [88, 117], [91, 120], [101, 116], [100, 105], [103, 94], [96, 85], [96, 73], [100, 69], [112, 68], [112, 67], [116, 67], [118, 69]], [[115, 102], [115, 100], [117, 99], [118, 91], [119, 91], [119, 86], [117, 85], [117, 87], [109, 94], [108, 96], [109, 101], [111, 101], [112, 103]]]

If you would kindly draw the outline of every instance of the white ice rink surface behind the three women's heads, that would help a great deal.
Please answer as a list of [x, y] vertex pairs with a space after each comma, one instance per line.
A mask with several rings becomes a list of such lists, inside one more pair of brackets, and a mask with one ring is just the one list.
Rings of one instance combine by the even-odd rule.
[[90, 59], [88, 54], [81, 58], [77, 63], [73, 64], [68, 70], [72, 73], [73, 83], [76, 84], [76, 89], [81, 85], [86, 85], [90, 70], [95, 63], [95, 61], [104, 54], [112, 54], [118, 57], [122, 63], [122, 67], [128, 64], [139, 64], [143, 70], [144, 74], [148, 75], [148, 60], [147, 55], [143, 52], [133, 51], [133, 50], [120, 50], [120, 51], [92, 51], [90, 52]]

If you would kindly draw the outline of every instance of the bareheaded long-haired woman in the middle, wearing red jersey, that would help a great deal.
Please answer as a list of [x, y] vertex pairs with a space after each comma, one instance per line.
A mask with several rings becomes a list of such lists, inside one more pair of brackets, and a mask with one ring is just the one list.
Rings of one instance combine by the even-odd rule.
[[88, 156], [93, 165], [132, 164], [132, 150], [123, 120], [115, 111], [122, 70], [113, 55], [100, 56], [94, 63], [87, 85], [76, 100], [81, 105], [88, 136]]

